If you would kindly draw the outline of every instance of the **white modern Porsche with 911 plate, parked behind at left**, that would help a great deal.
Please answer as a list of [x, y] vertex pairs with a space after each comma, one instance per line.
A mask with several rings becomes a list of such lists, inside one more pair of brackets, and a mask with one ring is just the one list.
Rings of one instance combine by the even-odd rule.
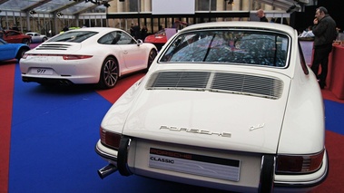
[[58, 34], [25, 53], [24, 82], [98, 84], [109, 89], [123, 74], [148, 69], [157, 54], [152, 43], [117, 28], [90, 27]]

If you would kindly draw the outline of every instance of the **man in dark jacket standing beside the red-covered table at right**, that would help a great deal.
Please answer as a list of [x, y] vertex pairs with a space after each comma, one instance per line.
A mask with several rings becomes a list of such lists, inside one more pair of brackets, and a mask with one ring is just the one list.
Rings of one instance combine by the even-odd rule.
[[[328, 74], [329, 53], [332, 51], [332, 43], [337, 37], [337, 24], [332, 17], [329, 16], [328, 10], [323, 6], [317, 8], [313, 23], [312, 32], [315, 35], [315, 39], [311, 70], [318, 77], [319, 86], [323, 89]], [[318, 74], [320, 64], [321, 72]]]

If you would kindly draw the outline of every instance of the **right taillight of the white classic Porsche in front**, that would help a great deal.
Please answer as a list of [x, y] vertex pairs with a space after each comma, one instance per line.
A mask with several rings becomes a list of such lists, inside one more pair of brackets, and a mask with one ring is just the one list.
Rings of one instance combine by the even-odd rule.
[[324, 150], [313, 155], [280, 155], [277, 157], [277, 173], [310, 173], [320, 168]]

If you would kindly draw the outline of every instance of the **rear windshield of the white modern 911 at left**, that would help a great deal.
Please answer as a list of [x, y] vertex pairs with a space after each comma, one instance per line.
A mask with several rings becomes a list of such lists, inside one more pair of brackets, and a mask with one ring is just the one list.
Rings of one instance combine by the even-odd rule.
[[63, 34], [59, 34], [50, 38], [47, 42], [70, 42], [70, 43], [81, 43], [85, 39], [97, 34], [97, 32], [88, 31], [70, 31]]

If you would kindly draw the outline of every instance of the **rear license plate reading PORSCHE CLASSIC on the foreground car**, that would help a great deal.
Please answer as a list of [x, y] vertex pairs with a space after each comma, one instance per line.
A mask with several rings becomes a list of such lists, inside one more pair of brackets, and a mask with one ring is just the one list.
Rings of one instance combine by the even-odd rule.
[[241, 161], [151, 148], [149, 167], [239, 181]]

